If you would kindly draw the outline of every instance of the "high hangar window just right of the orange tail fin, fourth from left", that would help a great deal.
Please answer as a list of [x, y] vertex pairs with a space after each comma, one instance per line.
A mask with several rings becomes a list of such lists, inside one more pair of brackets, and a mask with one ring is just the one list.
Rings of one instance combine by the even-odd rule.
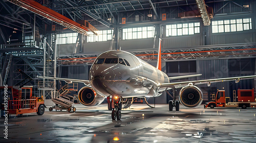
[[193, 35], [200, 33], [200, 22], [166, 25], [166, 36]]

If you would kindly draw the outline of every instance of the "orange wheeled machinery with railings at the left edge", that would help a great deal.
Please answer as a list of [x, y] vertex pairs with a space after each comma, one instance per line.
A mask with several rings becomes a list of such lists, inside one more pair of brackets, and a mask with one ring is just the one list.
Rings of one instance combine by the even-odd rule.
[[[7, 90], [6, 90], [7, 89]], [[8, 94], [6, 94], [7, 92]], [[24, 86], [19, 88], [18, 86], [0, 86], [0, 94], [2, 98], [4, 95], [8, 98], [8, 108], [3, 104], [2, 109], [7, 110], [8, 114], [24, 114], [34, 113], [42, 115], [45, 113], [44, 99], [32, 96], [32, 86]], [[4, 98], [1, 99], [2, 103], [6, 103]]]

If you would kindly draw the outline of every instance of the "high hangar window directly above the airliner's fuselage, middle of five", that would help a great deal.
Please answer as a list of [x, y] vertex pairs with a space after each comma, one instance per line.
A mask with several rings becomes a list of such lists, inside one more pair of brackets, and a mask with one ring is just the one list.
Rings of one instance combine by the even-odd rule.
[[153, 38], [155, 27], [137, 27], [123, 29], [123, 40]]

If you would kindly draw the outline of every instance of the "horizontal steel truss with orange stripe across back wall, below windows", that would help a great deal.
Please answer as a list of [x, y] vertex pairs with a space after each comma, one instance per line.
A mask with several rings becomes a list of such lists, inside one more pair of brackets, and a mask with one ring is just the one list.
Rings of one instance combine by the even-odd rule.
[[[129, 51], [131, 52], [131, 51]], [[142, 60], [157, 60], [158, 51], [141, 50], [131, 52]], [[93, 63], [99, 54], [63, 55], [58, 57], [60, 64], [88, 64]], [[256, 43], [229, 44], [187, 47], [181, 49], [162, 49], [161, 58], [164, 61], [191, 60], [191, 59], [219, 59], [219, 58], [242, 58], [256, 56]]]

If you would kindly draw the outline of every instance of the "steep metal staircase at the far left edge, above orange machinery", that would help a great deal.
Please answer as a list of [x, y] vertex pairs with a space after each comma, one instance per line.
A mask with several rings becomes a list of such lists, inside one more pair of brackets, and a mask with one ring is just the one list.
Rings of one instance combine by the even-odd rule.
[[5, 63], [3, 65], [3, 68], [2, 68], [3, 70], [2, 70], [2, 73], [1, 73], [1, 75], [3, 76], [3, 79], [4, 79], [3, 80], [3, 85], [6, 84], [9, 69], [10, 69], [10, 66], [11, 66], [11, 62], [12, 62], [12, 54], [6, 55]]

